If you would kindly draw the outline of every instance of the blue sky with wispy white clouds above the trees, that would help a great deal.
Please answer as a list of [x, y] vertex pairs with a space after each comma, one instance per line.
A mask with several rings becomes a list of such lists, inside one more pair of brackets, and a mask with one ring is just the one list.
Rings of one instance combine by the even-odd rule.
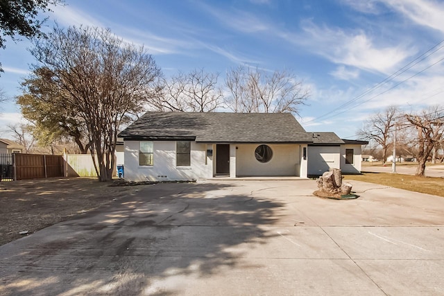
[[[57, 21], [59, 26], [110, 28], [123, 40], [143, 44], [165, 76], [204, 68], [220, 73], [223, 83], [226, 71], [239, 64], [266, 71], [290, 69], [311, 89], [297, 117], [307, 131], [332, 131], [353, 139], [370, 114], [389, 105], [409, 112], [444, 104], [444, 1], [66, 4], [53, 8], [46, 26]], [[8, 137], [7, 123], [20, 120], [12, 98], [20, 94], [19, 82], [34, 62], [27, 51], [31, 46], [27, 40], [8, 41], [6, 50], [0, 49], [5, 70], [0, 88], [10, 98], [0, 106], [0, 137]], [[409, 69], [391, 76], [407, 65]], [[386, 78], [391, 79], [378, 85]]]

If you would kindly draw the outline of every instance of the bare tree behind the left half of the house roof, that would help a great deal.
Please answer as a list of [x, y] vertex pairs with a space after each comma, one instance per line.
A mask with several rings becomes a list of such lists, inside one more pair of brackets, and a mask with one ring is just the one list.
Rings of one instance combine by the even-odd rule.
[[204, 69], [178, 73], [169, 80], [160, 78], [156, 96], [150, 100], [150, 105], [159, 111], [212, 112], [222, 103], [218, 78], [218, 74]]

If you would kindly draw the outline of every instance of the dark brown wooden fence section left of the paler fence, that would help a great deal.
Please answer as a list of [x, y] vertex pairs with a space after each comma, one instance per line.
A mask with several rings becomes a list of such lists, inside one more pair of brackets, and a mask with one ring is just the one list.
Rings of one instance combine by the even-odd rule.
[[14, 153], [15, 180], [63, 177], [62, 155]]

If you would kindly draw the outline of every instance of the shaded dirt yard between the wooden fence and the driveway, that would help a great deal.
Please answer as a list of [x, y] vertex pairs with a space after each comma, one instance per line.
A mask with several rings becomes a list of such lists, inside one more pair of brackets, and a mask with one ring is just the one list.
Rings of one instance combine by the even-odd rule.
[[83, 177], [0, 182], [0, 245], [115, 202], [139, 189], [111, 184], [115, 185]]

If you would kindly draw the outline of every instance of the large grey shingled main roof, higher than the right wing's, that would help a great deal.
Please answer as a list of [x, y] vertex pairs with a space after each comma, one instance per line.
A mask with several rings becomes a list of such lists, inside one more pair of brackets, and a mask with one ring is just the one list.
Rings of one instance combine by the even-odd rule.
[[125, 140], [201, 143], [311, 143], [290, 113], [146, 112], [119, 134]]

